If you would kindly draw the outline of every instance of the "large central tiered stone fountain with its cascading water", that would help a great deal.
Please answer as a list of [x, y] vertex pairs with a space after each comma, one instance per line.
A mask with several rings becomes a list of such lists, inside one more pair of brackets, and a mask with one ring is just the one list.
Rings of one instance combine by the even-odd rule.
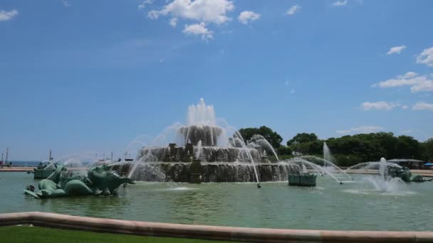
[[[111, 168], [134, 180], [194, 183], [279, 181], [302, 171], [291, 161], [278, 161], [263, 136], [244, 141], [204, 99], [188, 107], [187, 124], [169, 126], [150, 144], [139, 149], [135, 161]], [[277, 161], [269, 161], [268, 154]]]

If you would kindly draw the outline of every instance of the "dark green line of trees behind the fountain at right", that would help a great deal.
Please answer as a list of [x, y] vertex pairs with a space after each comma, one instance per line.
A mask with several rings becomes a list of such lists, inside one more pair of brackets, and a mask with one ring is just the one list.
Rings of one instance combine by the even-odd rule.
[[275, 148], [278, 156], [283, 158], [293, 156], [293, 152], [321, 157], [323, 143], [326, 142], [338, 166], [378, 161], [381, 157], [414, 158], [423, 161], [433, 159], [433, 138], [420, 142], [412, 136], [395, 136], [392, 132], [355, 134], [330, 139], [318, 139], [314, 133], [299, 133], [288, 140], [286, 146], [281, 144], [283, 138], [267, 126], [239, 129], [239, 133], [245, 141], [249, 141], [254, 134], [264, 136]]

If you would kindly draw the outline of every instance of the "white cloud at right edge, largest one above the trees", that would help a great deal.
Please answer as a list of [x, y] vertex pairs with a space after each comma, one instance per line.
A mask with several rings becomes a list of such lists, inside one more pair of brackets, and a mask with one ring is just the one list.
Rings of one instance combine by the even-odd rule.
[[395, 78], [372, 85], [372, 87], [381, 88], [400, 86], [410, 86], [410, 92], [433, 91], [433, 80], [427, 75], [418, 75], [416, 72], [406, 72], [404, 75], [397, 75]]

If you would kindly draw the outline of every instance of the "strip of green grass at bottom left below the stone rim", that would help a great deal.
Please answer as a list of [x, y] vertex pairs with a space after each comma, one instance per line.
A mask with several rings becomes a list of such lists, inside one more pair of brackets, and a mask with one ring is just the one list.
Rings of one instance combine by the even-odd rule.
[[4, 226], [0, 227], [0, 242], [16, 243], [72, 243], [72, 242], [100, 242], [100, 243], [118, 243], [118, 242], [140, 242], [140, 243], [222, 243], [221, 241], [204, 240], [204, 239], [181, 239], [169, 237], [145, 237], [130, 234], [110, 234], [85, 232], [79, 230], [51, 229], [44, 227], [24, 226]]

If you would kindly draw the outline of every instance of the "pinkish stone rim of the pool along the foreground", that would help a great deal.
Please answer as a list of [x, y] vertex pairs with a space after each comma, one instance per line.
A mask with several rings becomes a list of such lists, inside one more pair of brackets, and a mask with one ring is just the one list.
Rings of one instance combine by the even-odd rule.
[[180, 225], [60, 215], [49, 212], [0, 214], [0, 226], [21, 224], [94, 232], [138, 234], [155, 237], [219, 239], [239, 242], [433, 242], [433, 232], [264, 229]]

